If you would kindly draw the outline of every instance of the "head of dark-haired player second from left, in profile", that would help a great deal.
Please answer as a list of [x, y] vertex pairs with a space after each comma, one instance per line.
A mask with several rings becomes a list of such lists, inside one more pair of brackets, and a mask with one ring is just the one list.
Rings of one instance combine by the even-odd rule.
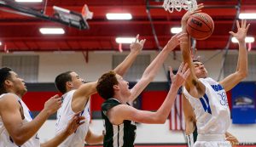
[[84, 83], [84, 79], [80, 78], [76, 72], [63, 72], [55, 78], [55, 87], [61, 93], [67, 93], [72, 89], [78, 89]]

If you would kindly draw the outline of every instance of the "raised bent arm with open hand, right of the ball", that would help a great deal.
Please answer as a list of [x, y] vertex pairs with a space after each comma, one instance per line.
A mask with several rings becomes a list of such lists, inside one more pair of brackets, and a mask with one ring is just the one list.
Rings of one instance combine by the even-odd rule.
[[219, 82], [225, 89], [225, 91], [229, 91], [231, 88], [234, 88], [236, 84], [241, 82], [247, 76], [248, 67], [247, 67], [247, 48], [245, 37], [247, 36], [247, 31], [249, 29], [250, 24], [247, 25], [246, 20], [241, 20], [241, 26], [239, 25], [239, 21], [236, 20], [237, 32], [230, 31], [230, 34], [233, 37], [236, 37], [239, 43], [239, 53], [238, 53], [238, 61], [236, 71], [232, 73], [230, 76], [224, 78], [223, 81]]

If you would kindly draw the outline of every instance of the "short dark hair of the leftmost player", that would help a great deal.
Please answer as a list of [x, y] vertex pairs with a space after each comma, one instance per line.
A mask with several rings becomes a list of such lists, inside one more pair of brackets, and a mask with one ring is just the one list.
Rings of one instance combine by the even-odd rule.
[[4, 82], [11, 78], [11, 73], [9, 71], [12, 71], [12, 69], [8, 67], [0, 69], [0, 94], [7, 93], [7, 90], [4, 87]]

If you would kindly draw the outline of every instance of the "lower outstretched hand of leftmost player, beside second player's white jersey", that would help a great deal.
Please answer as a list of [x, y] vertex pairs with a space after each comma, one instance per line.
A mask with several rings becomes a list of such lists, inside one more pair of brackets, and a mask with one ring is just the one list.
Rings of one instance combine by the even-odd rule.
[[81, 122], [84, 120], [84, 116], [79, 116], [81, 112], [76, 113], [73, 115], [72, 119], [68, 122], [67, 127], [66, 127], [66, 133], [68, 135], [71, 135], [74, 133], [79, 126], [84, 124], [84, 122]]

